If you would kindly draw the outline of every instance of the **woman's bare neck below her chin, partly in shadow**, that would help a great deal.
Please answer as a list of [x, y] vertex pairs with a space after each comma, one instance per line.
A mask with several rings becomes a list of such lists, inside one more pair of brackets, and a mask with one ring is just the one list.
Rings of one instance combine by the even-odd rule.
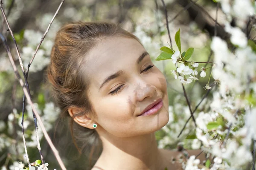
[[154, 133], [118, 138], [116, 136], [101, 136], [103, 150], [96, 163], [103, 165], [104, 170], [159, 170], [162, 156], [157, 148]]

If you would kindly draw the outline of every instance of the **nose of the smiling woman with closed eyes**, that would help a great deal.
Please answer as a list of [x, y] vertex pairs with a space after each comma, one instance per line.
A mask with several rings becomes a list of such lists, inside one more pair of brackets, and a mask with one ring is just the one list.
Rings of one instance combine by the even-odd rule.
[[154, 85], [149, 84], [145, 81], [140, 81], [137, 83], [135, 88], [135, 93], [138, 101], [143, 101], [146, 97], [151, 98], [154, 96], [157, 88]]

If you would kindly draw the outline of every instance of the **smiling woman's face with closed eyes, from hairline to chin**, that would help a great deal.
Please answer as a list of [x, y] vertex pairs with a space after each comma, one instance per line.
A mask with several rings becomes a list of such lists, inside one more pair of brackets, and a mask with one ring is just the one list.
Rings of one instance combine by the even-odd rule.
[[[88, 55], [85, 68], [91, 82], [88, 96], [97, 115], [94, 119], [97, 130], [131, 137], [153, 133], [167, 124], [166, 79], [156, 66], [149, 68], [154, 64], [140, 42], [108, 37], [100, 40]], [[107, 78], [109, 81], [105, 81]], [[138, 116], [157, 99], [163, 100], [157, 113]]]

